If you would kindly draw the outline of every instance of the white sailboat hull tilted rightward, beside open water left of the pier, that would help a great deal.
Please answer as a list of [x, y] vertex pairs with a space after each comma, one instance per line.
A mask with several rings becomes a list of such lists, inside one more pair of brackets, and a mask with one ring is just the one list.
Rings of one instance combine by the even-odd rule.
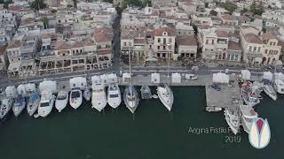
[[157, 93], [162, 104], [170, 111], [174, 102], [174, 95], [167, 84], [160, 85]]

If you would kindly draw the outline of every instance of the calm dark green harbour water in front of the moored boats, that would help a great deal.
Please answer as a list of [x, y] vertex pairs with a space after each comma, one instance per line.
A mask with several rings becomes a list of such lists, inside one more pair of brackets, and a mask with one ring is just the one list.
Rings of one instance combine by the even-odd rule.
[[10, 117], [0, 128], [2, 159], [84, 158], [283, 158], [284, 97], [272, 102], [266, 95], [257, 106], [267, 117], [272, 140], [267, 148], [255, 149], [242, 132], [241, 142], [226, 138], [233, 133], [188, 133], [189, 128], [226, 128], [223, 112], [205, 111], [205, 90], [201, 87], [173, 88], [172, 112], [157, 99], [140, 102], [133, 117], [122, 104], [118, 110], [91, 110], [85, 102], [78, 110], [70, 106], [49, 117], [31, 118], [25, 112]]

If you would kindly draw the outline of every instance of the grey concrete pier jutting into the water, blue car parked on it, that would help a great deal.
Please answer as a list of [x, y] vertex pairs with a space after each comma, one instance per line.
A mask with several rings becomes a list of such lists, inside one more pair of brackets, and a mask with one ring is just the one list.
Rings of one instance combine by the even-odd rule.
[[[212, 80], [206, 84], [206, 103], [208, 111], [219, 111], [225, 108], [236, 107], [239, 100], [242, 103], [241, 99], [241, 89], [237, 82], [237, 79], [234, 78], [234, 82], [232, 83], [233, 87], [228, 87], [227, 84], [218, 85], [221, 87], [220, 91], [211, 87]], [[239, 103], [240, 103], [239, 102]]]

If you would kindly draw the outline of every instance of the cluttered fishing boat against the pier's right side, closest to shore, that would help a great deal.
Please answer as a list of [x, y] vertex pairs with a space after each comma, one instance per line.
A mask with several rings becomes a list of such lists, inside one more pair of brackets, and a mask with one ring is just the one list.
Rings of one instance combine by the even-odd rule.
[[249, 81], [241, 85], [241, 97], [243, 101], [251, 107], [260, 102], [256, 92], [252, 89], [252, 83]]

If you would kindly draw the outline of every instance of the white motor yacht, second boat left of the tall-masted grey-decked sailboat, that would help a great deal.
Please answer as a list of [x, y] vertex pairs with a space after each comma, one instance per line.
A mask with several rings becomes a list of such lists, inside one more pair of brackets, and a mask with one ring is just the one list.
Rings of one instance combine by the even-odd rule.
[[106, 91], [102, 84], [92, 85], [91, 108], [103, 110], [106, 107]]

